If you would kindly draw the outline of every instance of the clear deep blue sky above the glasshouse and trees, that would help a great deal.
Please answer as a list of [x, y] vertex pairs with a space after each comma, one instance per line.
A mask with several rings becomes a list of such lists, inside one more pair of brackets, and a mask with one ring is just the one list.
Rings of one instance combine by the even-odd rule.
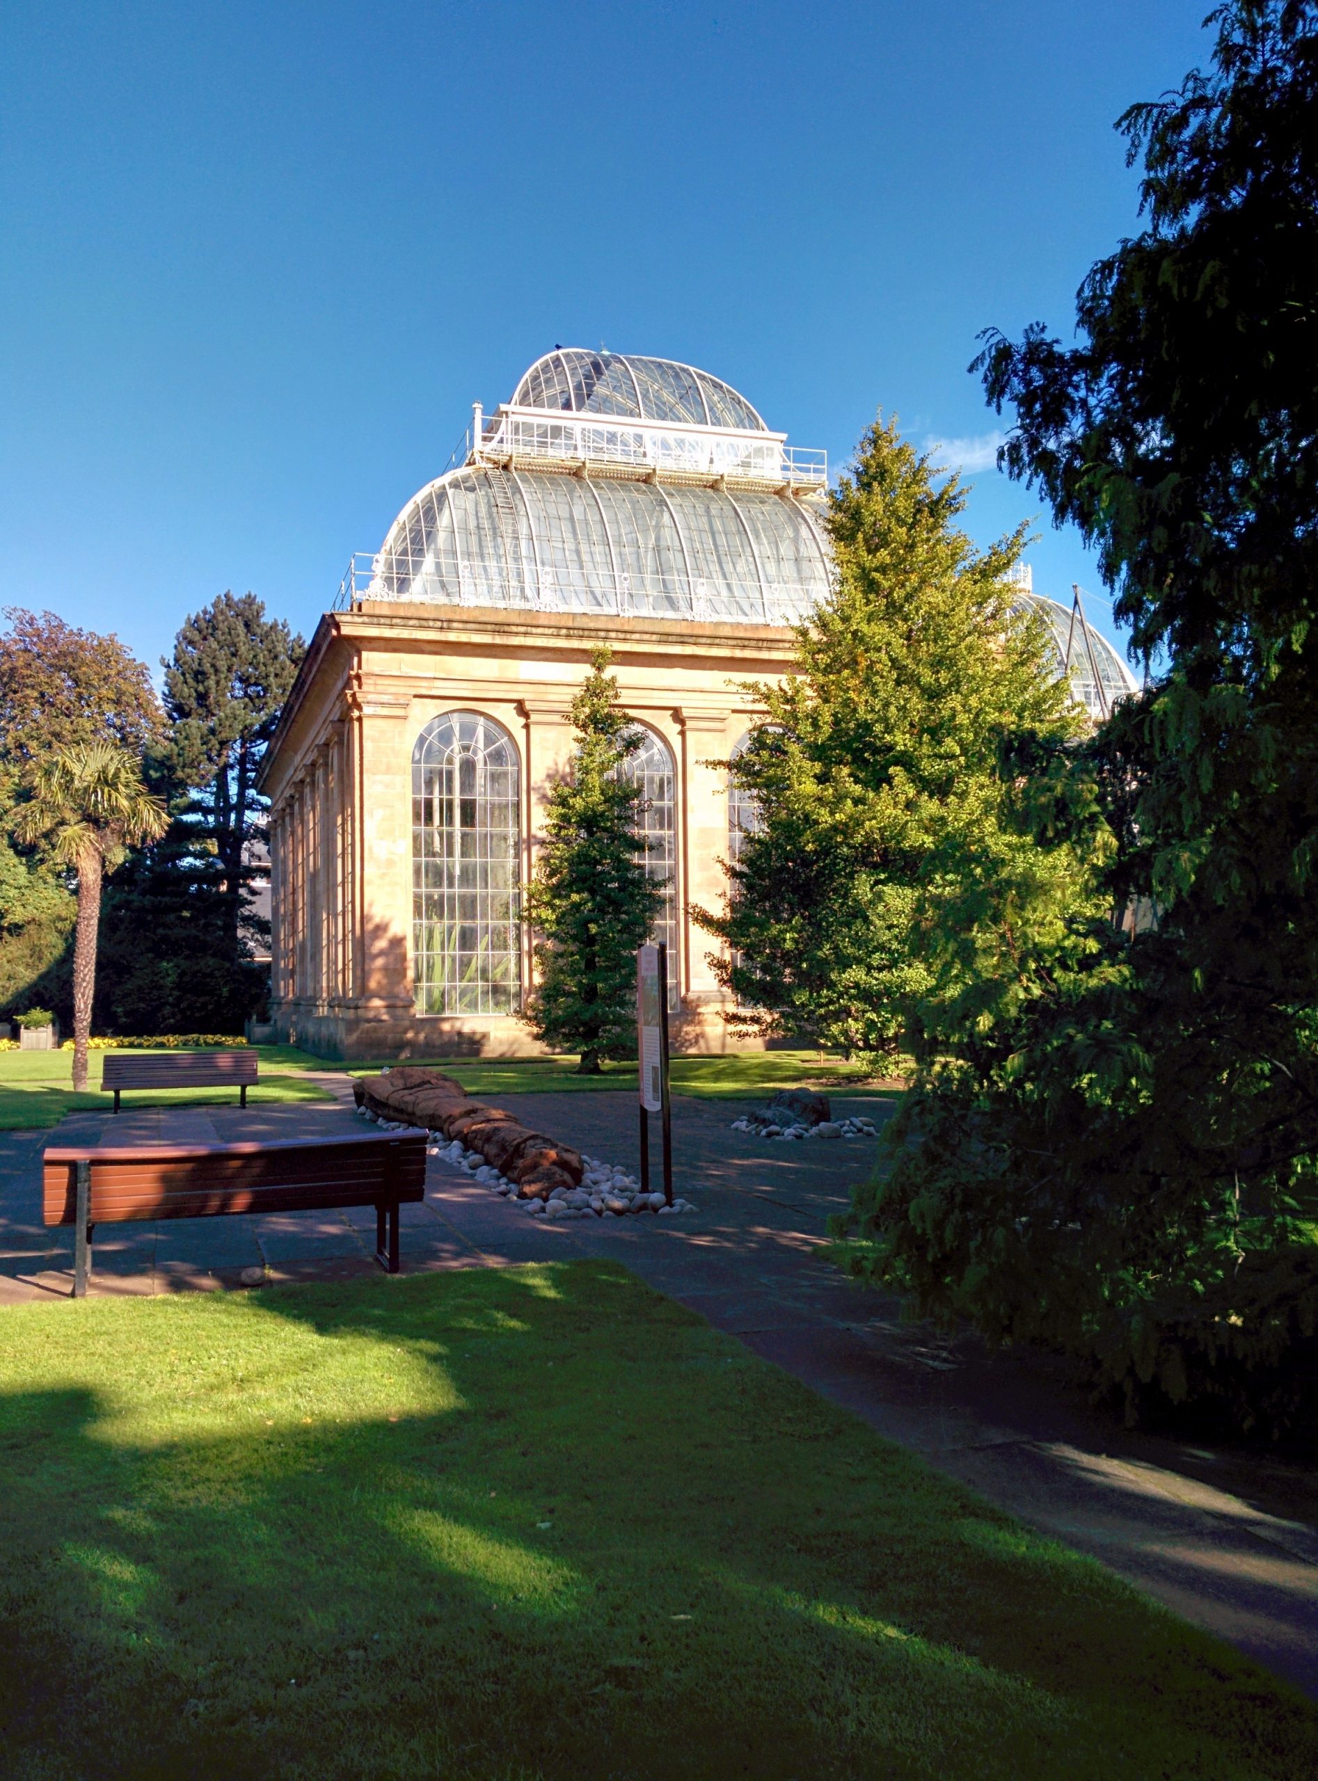
[[[987, 541], [1038, 504], [983, 467], [974, 335], [1069, 335], [1136, 226], [1111, 123], [1204, 11], [7, 0], [5, 604], [151, 664], [224, 588], [310, 634], [554, 342], [704, 365], [832, 463], [880, 406], [969, 442]], [[1038, 529], [1035, 588], [1097, 593]]]

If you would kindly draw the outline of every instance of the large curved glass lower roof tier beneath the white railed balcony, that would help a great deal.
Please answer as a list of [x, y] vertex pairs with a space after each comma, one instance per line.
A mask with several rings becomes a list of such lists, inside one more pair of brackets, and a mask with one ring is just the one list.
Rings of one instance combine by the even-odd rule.
[[830, 577], [803, 500], [479, 465], [404, 508], [367, 598], [789, 625]]

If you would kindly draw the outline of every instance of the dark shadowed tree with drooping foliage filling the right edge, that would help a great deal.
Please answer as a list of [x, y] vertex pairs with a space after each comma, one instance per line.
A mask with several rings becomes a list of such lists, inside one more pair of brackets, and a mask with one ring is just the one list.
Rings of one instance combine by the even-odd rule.
[[1145, 230], [1072, 349], [992, 337], [1006, 468], [1097, 541], [1156, 670], [1021, 821], [1090, 837], [1115, 921], [935, 1024], [857, 1266], [1090, 1357], [1131, 1414], [1318, 1427], [1318, 12], [1213, 14], [1122, 119]]

